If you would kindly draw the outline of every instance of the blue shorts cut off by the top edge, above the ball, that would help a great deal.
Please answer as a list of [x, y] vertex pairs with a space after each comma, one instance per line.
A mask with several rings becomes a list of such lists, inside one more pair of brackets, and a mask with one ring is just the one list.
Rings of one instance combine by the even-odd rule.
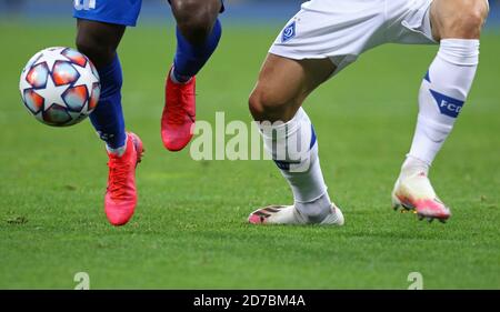
[[[220, 11], [223, 12], [224, 2], [221, 2]], [[136, 26], [142, 0], [74, 0], [73, 3], [73, 17], [77, 19]]]

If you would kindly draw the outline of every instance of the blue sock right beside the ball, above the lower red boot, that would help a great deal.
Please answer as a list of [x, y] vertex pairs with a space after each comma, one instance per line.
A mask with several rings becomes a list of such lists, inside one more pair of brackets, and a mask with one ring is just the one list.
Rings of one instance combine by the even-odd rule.
[[118, 149], [126, 144], [123, 112], [121, 110], [122, 73], [118, 54], [113, 61], [98, 69], [101, 79], [101, 97], [96, 110], [90, 114], [93, 128], [108, 148]]

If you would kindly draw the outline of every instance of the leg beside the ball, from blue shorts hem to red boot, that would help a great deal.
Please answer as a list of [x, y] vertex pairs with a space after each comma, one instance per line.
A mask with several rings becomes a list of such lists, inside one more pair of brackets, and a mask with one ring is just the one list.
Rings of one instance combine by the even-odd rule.
[[139, 137], [126, 132], [121, 109], [122, 72], [116, 51], [126, 26], [137, 19], [140, 1], [109, 0], [97, 2], [97, 7], [89, 4], [88, 10], [80, 4], [74, 8], [77, 47], [96, 64], [101, 82], [99, 103], [90, 119], [106, 142], [109, 155], [104, 211], [111, 224], [122, 225], [130, 220], [137, 204], [136, 165], [141, 159], [142, 143]]

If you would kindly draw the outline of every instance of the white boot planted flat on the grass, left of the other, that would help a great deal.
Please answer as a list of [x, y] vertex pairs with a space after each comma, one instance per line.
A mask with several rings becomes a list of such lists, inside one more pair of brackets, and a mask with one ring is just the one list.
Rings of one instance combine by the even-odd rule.
[[[248, 222], [252, 224], [314, 224], [308, 221], [293, 205], [269, 205], [250, 213]], [[322, 221], [316, 223], [321, 225], [343, 225], [343, 214], [332, 203], [331, 213]]]

